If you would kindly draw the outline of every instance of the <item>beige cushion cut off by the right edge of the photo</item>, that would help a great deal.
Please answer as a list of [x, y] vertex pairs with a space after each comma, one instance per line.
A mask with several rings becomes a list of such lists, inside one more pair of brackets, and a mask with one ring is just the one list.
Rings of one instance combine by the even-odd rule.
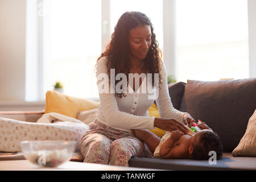
[[256, 110], [249, 119], [245, 135], [233, 150], [232, 155], [256, 157]]

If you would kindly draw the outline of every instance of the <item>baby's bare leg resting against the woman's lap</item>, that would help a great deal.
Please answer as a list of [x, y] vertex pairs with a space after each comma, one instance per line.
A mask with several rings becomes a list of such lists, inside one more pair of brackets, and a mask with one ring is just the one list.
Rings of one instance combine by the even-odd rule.
[[159, 145], [161, 140], [158, 136], [148, 130], [135, 129], [133, 130], [133, 133], [139, 140], [145, 142], [148, 148], [150, 148], [150, 151], [154, 153], [155, 148]]

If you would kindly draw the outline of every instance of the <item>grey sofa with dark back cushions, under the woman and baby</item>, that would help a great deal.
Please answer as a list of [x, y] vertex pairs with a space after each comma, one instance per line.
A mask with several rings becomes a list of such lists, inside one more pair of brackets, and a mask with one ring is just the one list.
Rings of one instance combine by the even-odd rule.
[[[170, 84], [168, 88], [172, 104], [176, 109], [188, 112], [196, 121], [200, 119], [207, 123], [218, 134], [223, 144], [223, 157], [216, 163], [210, 163], [208, 160], [134, 156], [129, 161], [130, 167], [167, 170], [256, 170], [256, 148], [253, 147], [255, 151], [249, 153], [234, 150], [245, 137], [249, 119], [256, 109], [256, 78], [220, 81], [188, 80], [187, 83]], [[0, 112], [0, 117], [35, 122], [43, 114], [44, 111], [10, 111]], [[81, 155], [74, 156], [71, 160], [82, 162]]]

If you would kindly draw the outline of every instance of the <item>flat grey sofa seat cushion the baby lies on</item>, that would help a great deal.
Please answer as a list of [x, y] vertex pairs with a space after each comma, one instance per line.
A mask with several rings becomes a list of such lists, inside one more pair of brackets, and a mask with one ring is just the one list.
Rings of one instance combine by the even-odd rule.
[[167, 169], [167, 170], [256, 170], [256, 158], [234, 158], [232, 154], [224, 153], [216, 164], [208, 160], [191, 159], [156, 159], [133, 157], [129, 160], [130, 167]]

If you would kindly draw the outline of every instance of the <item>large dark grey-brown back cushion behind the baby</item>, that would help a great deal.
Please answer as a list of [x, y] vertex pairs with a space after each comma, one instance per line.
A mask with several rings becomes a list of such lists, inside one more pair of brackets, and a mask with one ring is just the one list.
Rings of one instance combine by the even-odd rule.
[[256, 109], [255, 93], [256, 78], [188, 80], [180, 110], [207, 123], [220, 136], [223, 150], [232, 152]]

